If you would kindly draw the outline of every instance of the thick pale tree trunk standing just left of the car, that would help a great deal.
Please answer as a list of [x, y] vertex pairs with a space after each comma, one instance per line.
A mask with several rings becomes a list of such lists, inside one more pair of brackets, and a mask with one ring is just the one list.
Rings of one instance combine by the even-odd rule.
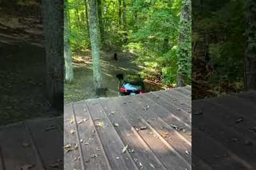
[[100, 69], [100, 48], [99, 48], [99, 32], [97, 20], [96, 0], [89, 0], [89, 16], [90, 16], [90, 40], [93, 60], [93, 88], [95, 91], [102, 89], [102, 77]]

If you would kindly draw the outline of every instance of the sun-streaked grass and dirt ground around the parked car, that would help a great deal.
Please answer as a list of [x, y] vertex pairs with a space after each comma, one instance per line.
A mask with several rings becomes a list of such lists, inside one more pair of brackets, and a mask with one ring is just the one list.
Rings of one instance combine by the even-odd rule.
[[[103, 88], [107, 88], [105, 97], [118, 96], [117, 73], [135, 72], [143, 69], [133, 61], [137, 56], [129, 52], [117, 53], [118, 60], [114, 60], [114, 52], [101, 52], [101, 73]], [[64, 102], [70, 103], [84, 99], [97, 98], [93, 91], [93, 71], [91, 51], [84, 50], [73, 56], [74, 81], [64, 84]], [[160, 90], [161, 87], [145, 83], [146, 91]]]

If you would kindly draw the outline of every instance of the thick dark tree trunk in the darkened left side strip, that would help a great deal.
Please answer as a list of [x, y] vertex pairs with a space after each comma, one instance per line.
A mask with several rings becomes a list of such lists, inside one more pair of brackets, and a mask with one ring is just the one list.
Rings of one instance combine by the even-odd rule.
[[42, 0], [46, 50], [46, 92], [51, 103], [59, 107], [63, 100], [62, 5], [61, 1]]

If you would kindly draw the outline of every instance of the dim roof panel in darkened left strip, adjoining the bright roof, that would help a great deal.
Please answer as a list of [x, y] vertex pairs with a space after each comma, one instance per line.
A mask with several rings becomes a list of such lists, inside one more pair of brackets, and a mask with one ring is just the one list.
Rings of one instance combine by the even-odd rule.
[[[45, 169], [62, 169], [61, 135], [53, 118], [26, 121], [28, 131], [42, 159]], [[51, 128], [49, 128], [51, 127]], [[51, 130], [50, 130], [51, 129]], [[51, 167], [58, 164], [58, 167]]]

